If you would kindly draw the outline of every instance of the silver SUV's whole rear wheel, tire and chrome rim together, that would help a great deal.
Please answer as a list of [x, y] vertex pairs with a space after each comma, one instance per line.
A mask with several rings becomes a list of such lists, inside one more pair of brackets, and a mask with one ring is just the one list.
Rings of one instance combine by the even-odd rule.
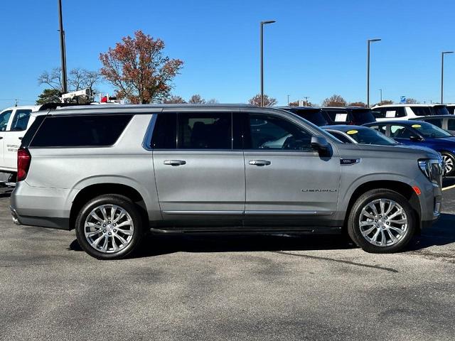
[[77, 215], [76, 237], [90, 256], [124, 258], [141, 242], [141, 216], [128, 197], [101, 195], [87, 202]]

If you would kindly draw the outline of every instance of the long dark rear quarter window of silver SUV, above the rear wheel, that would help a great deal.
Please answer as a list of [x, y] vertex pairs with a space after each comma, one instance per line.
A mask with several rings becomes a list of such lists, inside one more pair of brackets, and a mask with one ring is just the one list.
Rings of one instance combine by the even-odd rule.
[[132, 115], [75, 115], [45, 117], [31, 147], [111, 146]]

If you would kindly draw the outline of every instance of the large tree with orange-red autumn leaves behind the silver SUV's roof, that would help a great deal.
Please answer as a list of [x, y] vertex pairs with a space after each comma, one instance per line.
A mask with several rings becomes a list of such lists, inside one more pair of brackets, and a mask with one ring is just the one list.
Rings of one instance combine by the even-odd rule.
[[100, 72], [110, 82], [116, 96], [136, 104], [161, 102], [172, 90], [172, 80], [183, 61], [164, 55], [164, 41], [142, 31], [124, 37], [121, 43], [100, 53]]

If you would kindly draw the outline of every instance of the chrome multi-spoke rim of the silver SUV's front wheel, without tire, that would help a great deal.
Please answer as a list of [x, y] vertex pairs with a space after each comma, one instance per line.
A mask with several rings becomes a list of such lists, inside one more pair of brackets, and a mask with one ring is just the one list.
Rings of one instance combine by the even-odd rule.
[[389, 247], [405, 237], [408, 222], [400, 204], [390, 199], [376, 199], [363, 207], [358, 224], [368, 242]]

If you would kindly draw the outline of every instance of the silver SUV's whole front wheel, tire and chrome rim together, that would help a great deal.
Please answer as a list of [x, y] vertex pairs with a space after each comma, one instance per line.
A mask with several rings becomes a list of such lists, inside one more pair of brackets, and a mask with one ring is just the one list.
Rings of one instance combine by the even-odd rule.
[[410, 242], [416, 224], [414, 211], [405, 197], [392, 190], [370, 190], [355, 201], [348, 234], [367, 252], [397, 252]]

